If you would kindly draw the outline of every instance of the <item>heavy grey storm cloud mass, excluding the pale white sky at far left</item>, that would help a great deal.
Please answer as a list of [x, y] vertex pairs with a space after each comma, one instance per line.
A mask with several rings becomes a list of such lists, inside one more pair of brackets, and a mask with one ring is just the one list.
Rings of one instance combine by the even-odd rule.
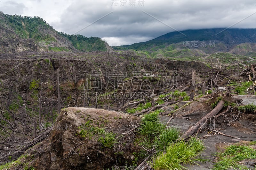
[[[138, 1], [136, 1], [138, 3]], [[110, 45], [122, 45], [147, 41], [164, 33], [186, 29], [228, 27], [256, 12], [255, 1], [223, 0], [184, 0], [184, 1], [150, 1], [144, 0], [144, 6], [113, 6], [112, 1], [76, 2], [71, 4], [55, 23], [58, 30], [69, 34], [100, 17], [110, 15], [88, 26], [78, 34], [105, 38]], [[150, 17], [145, 11], [158, 20]], [[234, 27], [255, 28], [255, 15], [247, 18]], [[171, 27], [168, 27], [169, 25]]]

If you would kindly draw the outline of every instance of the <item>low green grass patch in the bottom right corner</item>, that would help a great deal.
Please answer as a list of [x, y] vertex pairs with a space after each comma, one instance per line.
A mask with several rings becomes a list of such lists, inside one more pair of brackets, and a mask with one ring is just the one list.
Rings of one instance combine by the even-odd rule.
[[230, 145], [224, 152], [216, 153], [219, 161], [214, 165], [214, 170], [233, 168], [248, 169], [239, 165], [238, 161], [244, 159], [256, 159], [256, 150], [244, 145]]

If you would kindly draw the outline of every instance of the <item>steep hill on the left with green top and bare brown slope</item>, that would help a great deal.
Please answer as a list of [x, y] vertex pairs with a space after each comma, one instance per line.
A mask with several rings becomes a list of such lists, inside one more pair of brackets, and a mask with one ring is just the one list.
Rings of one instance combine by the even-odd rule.
[[8, 15], [0, 12], [0, 53], [23, 51], [107, 51], [99, 37], [58, 32], [40, 17]]

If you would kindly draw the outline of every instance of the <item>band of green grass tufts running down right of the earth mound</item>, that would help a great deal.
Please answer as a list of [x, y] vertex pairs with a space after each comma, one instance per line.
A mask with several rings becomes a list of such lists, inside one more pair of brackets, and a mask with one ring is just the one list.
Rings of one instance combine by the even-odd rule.
[[[175, 128], [166, 128], [159, 122], [157, 116], [161, 110], [156, 110], [142, 117], [141, 125], [138, 128], [141, 138], [138, 139], [140, 145], [151, 150], [156, 149], [156, 158], [152, 163], [155, 169], [181, 169], [181, 164], [193, 163], [195, 161], [206, 161], [196, 159], [198, 152], [204, 149], [203, 143], [191, 138], [188, 142], [175, 141], [180, 135], [180, 131]], [[144, 150], [136, 153], [141, 158], [147, 154]]]

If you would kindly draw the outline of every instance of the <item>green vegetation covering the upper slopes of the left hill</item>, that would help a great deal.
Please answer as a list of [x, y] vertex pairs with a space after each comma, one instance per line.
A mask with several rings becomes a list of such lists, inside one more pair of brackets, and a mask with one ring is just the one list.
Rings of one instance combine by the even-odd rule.
[[[62, 44], [65, 45], [65, 47], [49, 46], [50, 51], [69, 51], [68, 46], [71, 46], [71, 43], [76, 49], [84, 52], [107, 51], [105, 42], [99, 37], [87, 38], [83, 35], [68, 35], [66, 33], [58, 32], [40, 17], [26, 17], [4, 13], [0, 13], [0, 16], [2, 17], [0, 20], [1, 26], [13, 30], [21, 39], [31, 39], [35, 43], [44, 45], [57, 42], [56, 38], [64, 39]], [[15, 34], [10, 34], [10, 38], [12, 38], [12, 36], [15, 36]]]

